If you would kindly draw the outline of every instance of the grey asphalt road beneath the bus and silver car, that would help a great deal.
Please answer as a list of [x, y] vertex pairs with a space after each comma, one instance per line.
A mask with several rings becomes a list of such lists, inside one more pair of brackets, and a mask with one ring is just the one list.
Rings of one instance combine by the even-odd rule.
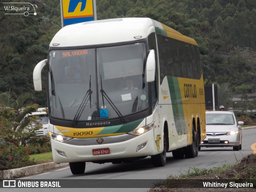
[[[114, 179], [118, 182], [117, 179], [166, 179], [169, 175], [180, 175], [181, 173], [186, 173], [192, 171], [193, 167], [196, 168], [213, 168], [222, 166], [223, 164], [233, 164], [239, 161], [243, 156], [252, 153], [251, 145], [256, 142], [256, 129], [242, 130], [242, 150], [233, 151], [231, 147], [228, 148], [201, 148], [199, 151], [198, 157], [192, 159], [182, 159], [174, 160], [172, 153], [167, 154], [167, 162], [165, 167], [154, 168], [151, 163], [150, 157], [138, 160], [132, 163], [125, 164], [93, 164], [91, 162], [86, 163], [86, 170], [84, 174], [81, 175], [72, 175], [69, 167], [60, 168], [57, 170], [50, 170], [42, 174], [24, 177], [20, 179]], [[67, 180], [68, 181], [68, 180]], [[132, 185], [132, 183], [131, 183]], [[75, 191], [98, 191], [104, 190], [107, 191], [143, 191], [146, 192], [149, 188], [140, 188], [140, 189], [118, 189], [118, 188], [102, 188], [99, 186], [99, 189], [96, 188], [76, 188]], [[12, 192], [32, 192], [35, 189], [5, 189], [6, 191]], [[62, 189], [36, 189], [37, 192], [44, 191], [61, 191], [69, 192], [69, 188]]]

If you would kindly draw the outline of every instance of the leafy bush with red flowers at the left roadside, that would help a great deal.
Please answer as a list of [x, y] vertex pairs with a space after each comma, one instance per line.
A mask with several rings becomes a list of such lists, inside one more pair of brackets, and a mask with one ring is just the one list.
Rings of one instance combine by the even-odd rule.
[[16, 110], [0, 104], [0, 170], [32, 165], [29, 154], [51, 151], [49, 136], [36, 136], [41, 125], [26, 132], [24, 128], [14, 130], [20, 125], [17, 116]]

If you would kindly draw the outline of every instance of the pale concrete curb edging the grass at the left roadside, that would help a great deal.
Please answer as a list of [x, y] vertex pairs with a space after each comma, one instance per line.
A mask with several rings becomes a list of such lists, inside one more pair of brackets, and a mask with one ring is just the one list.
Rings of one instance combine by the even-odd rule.
[[51, 162], [51, 163], [26, 166], [26, 167], [17, 168], [17, 169], [1, 170], [0, 179], [20, 178], [23, 176], [28, 176], [28, 175], [40, 173], [45, 170], [50, 170], [50, 169], [64, 167], [64, 166], [68, 166], [68, 163], [56, 164], [54, 162]]

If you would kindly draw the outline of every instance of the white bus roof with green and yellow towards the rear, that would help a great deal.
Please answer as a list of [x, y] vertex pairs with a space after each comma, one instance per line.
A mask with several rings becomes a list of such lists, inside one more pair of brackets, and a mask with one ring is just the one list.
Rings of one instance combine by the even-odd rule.
[[50, 47], [128, 42], [140, 36], [146, 38], [152, 32], [197, 45], [194, 39], [150, 18], [116, 18], [65, 26], [56, 33]]

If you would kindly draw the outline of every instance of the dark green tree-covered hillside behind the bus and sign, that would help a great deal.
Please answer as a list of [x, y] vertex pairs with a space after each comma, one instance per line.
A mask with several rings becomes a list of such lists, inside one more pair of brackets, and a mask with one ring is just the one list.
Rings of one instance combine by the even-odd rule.
[[[32, 74], [47, 58], [50, 40], [61, 28], [60, 0], [26, 2], [38, 6], [36, 16], [7, 15], [1, 5], [0, 92], [14, 97], [31, 92], [36, 96], [31, 102], [46, 106], [46, 72], [39, 93]], [[232, 92], [255, 92], [255, 0], [96, 0], [96, 6], [98, 20], [149, 17], [194, 38], [205, 84], [228, 83]]]

